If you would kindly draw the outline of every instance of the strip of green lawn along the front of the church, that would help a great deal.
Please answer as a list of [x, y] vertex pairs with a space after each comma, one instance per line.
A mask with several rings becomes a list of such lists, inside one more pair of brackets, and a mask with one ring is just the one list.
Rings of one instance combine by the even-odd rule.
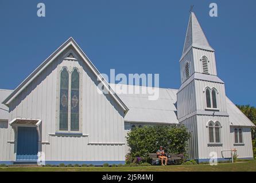
[[256, 172], [256, 161], [236, 162], [234, 164], [210, 165], [172, 165], [172, 166], [137, 166], [137, 167], [1, 167], [0, 172]]

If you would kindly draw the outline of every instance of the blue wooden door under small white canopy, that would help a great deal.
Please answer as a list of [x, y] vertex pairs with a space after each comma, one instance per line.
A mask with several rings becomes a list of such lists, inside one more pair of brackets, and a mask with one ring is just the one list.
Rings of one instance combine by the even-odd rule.
[[18, 127], [16, 161], [37, 161], [38, 134], [35, 127]]

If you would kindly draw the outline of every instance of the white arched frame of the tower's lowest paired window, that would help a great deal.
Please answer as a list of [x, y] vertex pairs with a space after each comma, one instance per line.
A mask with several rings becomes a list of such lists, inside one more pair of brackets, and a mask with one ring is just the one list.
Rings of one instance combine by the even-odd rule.
[[[206, 127], [208, 128], [208, 142], [210, 144], [221, 144], [222, 143], [222, 136], [221, 136], [222, 126], [221, 126], [220, 122], [219, 121], [215, 121], [215, 122], [209, 121], [207, 123]], [[219, 133], [218, 137], [216, 136], [216, 132]], [[212, 138], [213, 138], [213, 140], [212, 140]]]

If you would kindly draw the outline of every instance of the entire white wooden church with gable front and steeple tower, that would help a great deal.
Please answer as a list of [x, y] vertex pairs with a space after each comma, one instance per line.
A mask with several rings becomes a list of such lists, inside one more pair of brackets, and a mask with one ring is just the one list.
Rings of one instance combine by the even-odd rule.
[[[189, 158], [209, 161], [253, 158], [254, 124], [226, 97], [215, 51], [194, 13], [180, 59], [181, 86], [145, 94], [111, 93], [110, 85], [69, 38], [15, 90], [0, 90], [0, 164], [123, 164], [125, 136], [143, 125], [185, 125]], [[161, 73], [160, 73], [161, 74]], [[101, 78], [100, 80], [97, 78]], [[110, 94], [99, 94], [103, 83]], [[142, 88], [144, 86], [133, 86]]]

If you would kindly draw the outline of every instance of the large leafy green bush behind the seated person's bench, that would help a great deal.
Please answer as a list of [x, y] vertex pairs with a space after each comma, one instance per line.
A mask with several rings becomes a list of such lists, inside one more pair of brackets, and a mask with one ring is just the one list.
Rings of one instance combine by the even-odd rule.
[[144, 126], [135, 128], [127, 134], [127, 144], [130, 147], [129, 158], [141, 157], [149, 161], [148, 154], [156, 153], [160, 146], [165, 152], [175, 154], [187, 153], [187, 142], [190, 134], [185, 126]]

